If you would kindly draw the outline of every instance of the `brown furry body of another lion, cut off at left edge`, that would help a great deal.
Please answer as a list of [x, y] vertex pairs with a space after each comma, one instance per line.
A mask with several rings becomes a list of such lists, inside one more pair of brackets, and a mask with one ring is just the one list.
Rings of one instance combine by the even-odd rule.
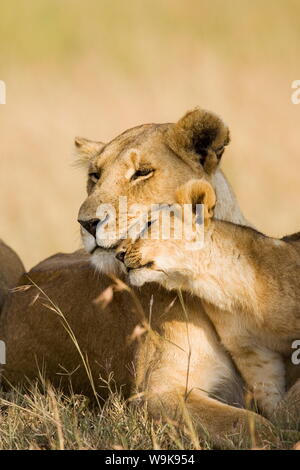
[[17, 285], [24, 271], [18, 255], [0, 240], [0, 311], [9, 289]]

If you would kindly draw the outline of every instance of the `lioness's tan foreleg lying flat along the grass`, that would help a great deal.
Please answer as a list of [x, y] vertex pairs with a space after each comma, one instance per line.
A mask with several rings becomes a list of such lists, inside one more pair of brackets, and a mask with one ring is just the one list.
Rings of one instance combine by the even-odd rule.
[[192, 428], [204, 440], [216, 447], [276, 445], [272, 424], [262, 416], [221, 403], [199, 391], [184, 399], [184, 390], [174, 389], [159, 394], [147, 394], [149, 414], [154, 419], [177, 423], [187, 431]]

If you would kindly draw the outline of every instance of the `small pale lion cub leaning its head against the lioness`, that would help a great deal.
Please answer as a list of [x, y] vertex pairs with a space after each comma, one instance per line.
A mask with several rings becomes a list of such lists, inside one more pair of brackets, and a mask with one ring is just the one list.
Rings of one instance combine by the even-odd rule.
[[[201, 298], [259, 408], [270, 417], [285, 392], [283, 356], [300, 339], [299, 245], [214, 219], [216, 195], [204, 180], [180, 187], [177, 201], [190, 204], [191, 213], [204, 204], [201, 249], [191, 250], [186, 235], [165, 240], [157, 233], [157, 239], [126, 240], [117, 257], [134, 285], [154, 281]], [[195, 226], [196, 216], [190, 215]]]

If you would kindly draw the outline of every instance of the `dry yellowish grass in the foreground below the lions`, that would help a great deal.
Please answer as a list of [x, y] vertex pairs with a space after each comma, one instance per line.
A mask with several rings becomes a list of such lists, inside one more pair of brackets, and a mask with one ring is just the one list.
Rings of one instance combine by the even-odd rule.
[[[82, 395], [64, 396], [49, 384], [30, 384], [26, 391], [0, 393], [0, 450], [4, 449], [203, 449], [214, 448], [207, 436], [199, 442], [192, 429], [153, 422], [144, 406], [130, 406], [110, 386], [102, 409]], [[292, 449], [299, 431], [277, 429], [276, 449]], [[299, 445], [299, 444], [298, 444]], [[224, 441], [222, 449], [251, 448]], [[265, 446], [274, 449], [274, 444]]]

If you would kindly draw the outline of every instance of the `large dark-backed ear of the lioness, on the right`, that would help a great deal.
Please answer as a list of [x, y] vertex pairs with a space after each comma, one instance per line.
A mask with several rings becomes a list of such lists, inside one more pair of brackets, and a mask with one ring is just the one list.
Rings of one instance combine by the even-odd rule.
[[167, 144], [186, 161], [191, 159], [212, 173], [230, 142], [229, 129], [214, 113], [196, 108], [167, 131]]

